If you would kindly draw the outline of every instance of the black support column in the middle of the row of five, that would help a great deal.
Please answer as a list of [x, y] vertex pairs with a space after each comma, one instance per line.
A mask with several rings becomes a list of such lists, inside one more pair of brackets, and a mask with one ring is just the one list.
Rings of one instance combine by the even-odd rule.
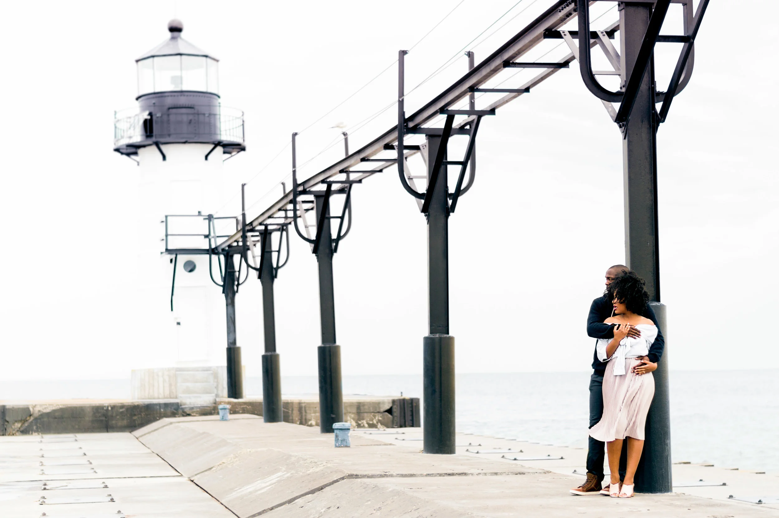
[[319, 359], [319, 431], [333, 433], [333, 423], [344, 421], [344, 395], [341, 392], [340, 346], [336, 344], [336, 311], [333, 295], [333, 236], [330, 232], [330, 204], [316, 196], [316, 220], [325, 210], [316, 261], [319, 265], [319, 318], [322, 345]]

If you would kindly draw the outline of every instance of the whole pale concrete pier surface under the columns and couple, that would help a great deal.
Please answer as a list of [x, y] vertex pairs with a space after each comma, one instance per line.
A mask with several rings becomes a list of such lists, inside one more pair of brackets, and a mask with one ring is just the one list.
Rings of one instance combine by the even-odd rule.
[[132, 434], [2, 437], [3, 516], [779, 515], [779, 502], [728, 499], [775, 497], [775, 473], [679, 464], [680, 484], [728, 485], [583, 497], [568, 489], [583, 480], [573, 471], [583, 470], [584, 450], [458, 434], [456, 455], [425, 455], [420, 439], [420, 428], [355, 431], [351, 448], [336, 449], [317, 428], [253, 415], [162, 419]]

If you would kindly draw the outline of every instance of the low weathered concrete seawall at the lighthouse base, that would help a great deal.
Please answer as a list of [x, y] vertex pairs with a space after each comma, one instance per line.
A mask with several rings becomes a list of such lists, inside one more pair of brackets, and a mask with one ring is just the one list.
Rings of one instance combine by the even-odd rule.
[[[227, 403], [233, 414], [263, 415], [263, 400], [217, 399], [217, 404], [185, 407], [180, 400], [53, 400], [0, 403], [0, 435], [130, 432], [162, 418], [216, 415]], [[319, 426], [319, 400], [309, 396], [284, 399], [284, 421]], [[397, 404], [396, 404], [397, 407]], [[344, 396], [344, 418], [354, 428], [393, 428], [393, 398]]]

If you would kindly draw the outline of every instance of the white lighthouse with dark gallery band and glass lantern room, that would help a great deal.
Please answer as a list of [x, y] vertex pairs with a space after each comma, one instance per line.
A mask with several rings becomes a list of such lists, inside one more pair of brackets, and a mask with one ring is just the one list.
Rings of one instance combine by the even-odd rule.
[[180, 20], [167, 30], [136, 59], [137, 106], [115, 118], [114, 150], [138, 164], [132, 332], [153, 358], [133, 370], [132, 393], [206, 407], [225, 396], [225, 298], [214, 284], [227, 270], [207, 252], [236, 225], [207, 211], [222, 202], [224, 160], [245, 150], [243, 113], [222, 105], [219, 60], [182, 37]]

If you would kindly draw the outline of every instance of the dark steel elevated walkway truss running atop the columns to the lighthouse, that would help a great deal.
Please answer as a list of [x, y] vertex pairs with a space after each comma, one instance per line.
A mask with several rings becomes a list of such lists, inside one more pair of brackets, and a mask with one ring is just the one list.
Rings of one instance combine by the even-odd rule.
[[[611, 2], [611, 0], [601, 0], [601, 2]], [[326, 167], [323, 171], [312, 175], [299, 183], [295, 181], [297, 189], [285, 192], [275, 203], [270, 205], [266, 210], [263, 210], [257, 217], [248, 221], [246, 224], [246, 231], [252, 232], [255, 229], [269, 226], [270, 228], [276, 228], [285, 224], [294, 223], [294, 215], [297, 214], [298, 218], [302, 220], [302, 227], [305, 229], [305, 239], [312, 245], [312, 251], [318, 248], [320, 243], [317, 236], [321, 238], [321, 232], [319, 231], [319, 220], [315, 221], [315, 218], [311, 214], [314, 210], [315, 194], [321, 194], [326, 196], [326, 199], [330, 201], [330, 197], [333, 195], [351, 196], [351, 187], [356, 184], [362, 183], [362, 181], [372, 177], [374, 174], [379, 174], [385, 171], [388, 167], [395, 167], [397, 164], [397, 157], [399, 156], [397, 151], [402, 150], [402, 156], [404, 160], [398, 167], [401, 181], [404, 188], [411, 193], [414, 198], [418, 200], [418, 206], [421, 212], [425, 213], [429, 204], [429, 196], [425, 196], [425, 193], [432, 192], [431, 186], [435, 186], [435, 182], [439, 178], [439, 167], [434, 167], [434, 173], [429, 178], [429, 185], [426, 188], [419, 189], [417, 181], [428, 180], [428, 175], [414, 175], [409, 171], [407, 159], [416, 153], [422, 153], [422, 157], [425, 161], [428, 159], [424, 145], [411, 146], [404, 145], [403, 136], [406, 135], [440, 135], [442, 140], [446, 143], [452, 136], [468, 136], [470, 141], [467, 145], [466, 156], [463, 160], [443, 160], [442, 156], [445, 154], [445, 150], [437, 153], [435, 157], [435, 164], [442, 164], [444, 166], [460, 166], [460, 174], [457, 179], [457, 183], [453, 192], [449, 194], [450, 210], [454, 212], [456, 209], [457, 201], [460, 196], [465, 194], [474, 181], [474, 172], [471, 171], [467, 181], [464, 181], [464, 176], [470, 160], [470, 155], [474, 149], [475, 136], [478, 132], [479, 123], [481, 117], [485, 115], [495, 115], [495, 111], [506, 105], [512, 100], [530, 93], [530, 90], [552, 77], [555, 73], [561, 69], [568, 69], [572, 62], [577, 61], [580, 58], [579, 49], [584, 44], [587, 45], [587, 37], [584, 36], [587, 30], [561, 30], [561, 27], [568, 23], [573, 16], [576, 16], [577, 3], [584, 3], [585, 0], [560, 0], [555, 2], [552, 7], [547, 9], [541, 16], [538, 16], [530, 25], [526, 26], [523, 30], [517, 33], [509, 41], [488, 56], [484, 61], [475, 65], [469, 72], [467, 72], [462, 78], [458, 79], [453, 85], [443, 90], [442, 93], [435, 96], [423, 107], [415, 111], [414, 114], [407, 118], [403, 118], [403, 123], [396, 125], [393, 128], [382, 133], [382, 135], [373, 139], [370, 143], [362, 146], [359, 150], [349, 154], [336, 163]], [[588, 2], [590, 5], [595, 2]], [[634, 2], [636, 3], [636, 2]], [[640, 0], [637, 3], [654, 4], [651, 0]], [[655, 9], [657, 12], [656, 23], [653, 27], [650, 27], [653, 33], [647, 33], [647, 46], [642, 55], [639, 56], [640, 60], [643, 60], [645, 64], [648, 62], [652, 55], [655, 43], [682, 43], [682, 53], [679, 56], [679, 62], [676, 66], [673, 77], [671, 78], [671, 84], [665, 92], [657, 92], [656, 99], [658, 102], [663, 102], [661, 107], [659, 121], [663, 122], [668, 115], [668, 107], [671, 104], [673, 96], [681, 92], [686, 84], [689, 82], [689, 78], [693, 68], [693, 42], [696, 36], [700, 21], [702, 19], [702, 12], [705, 10], [707, 0], [702, 0], [699, 7], [698, 16], [693, 16], [692, 0], [672, 0], [671, 2], [659, 2], [665, 4], [665, 9]], [[659, 26], [664, 19], [665, 11], [667, 10], [668, 3], [679, 3], [683, 7], [683, 26], [686, 31], [682, 35], [664, 36], [659, 34]], [[579, 26], [589, 26], [589, 20], [582, 16], [579, 20]], [[599, 48], [608, 62], [612, 65], [611, 70], [592, 70], [590, 51], [583, 53], [585, 58], [580, 62], [580, 69], [582, 70], [583, 80], [585, 85], [590, 90], [601, 98], [608, 114], [617, 122], [621, 127], [626, 124], [629, 118], [629, 108], [631, 102], [621, 103], [619, 108], [613, 106], [614, 102], [621, 102], [623, 95], [626, 99], [631, 100], [635, 97], [636, 86], [633, 84], [640, 83], [638, 75], [633, 75], [635, 79], [633, 84], [627, 83], [625, 71], [621, 69], [619, 51], [616, 50], [612, 39], [615, 37], [615, 33], [619, 31], [619, 21], [612, 23], [603, 30], [590, 30], [589, 48]], [[538, 44], [545, 39], [563, 39], [570, 49], [570, 53], [564, 57], [558, 59], [555, 62], [523, 62], [522, 58], [527, 55], [528, 52], [533, 50]], [[402, 67], [404, 51], [400, 51], [400, 66]], [[499, 76], [506, 69], [539, 69], [538, 75], [527, 80], [522, 86], [517, 88], [483, 88], [482, 85], [489, 80]], [[402, 81], [402, 69], [400, 71], [400, 80]], [[609, 92], [605, 90], [597, 80], [595, 76], [621, 76], [622, 84], [625, 84], [624, 91]], [[604, 93], [605, 92], [605, 93]], [[667, 94], [671, 93], [671, 94]], [[474, 93], [504, 93], [502, 97], [497, 100], [493, 100], [485, 107], [480, 107], [478, 110], [474, 108], [473, 94]], [[471, 97], [471, 107], [468, 110], [455, 110], [452, 109], [453, 105], [460, 101]], [[399, 111], [402, 111], [403, 96], [399, 96]], [[620, 111], [621, 110], [621, 111]], [[446, 115], [446, 121], [443, 128], [431, 127], [430, 124], [434, 122], [439, 115]], [[459, 120], [458, 120], [459, 119]], [[400, 135], [400, 139], [399, 139]], [[446, 147], [446, 146], [443, 146]], [[473, 169], [471, 167], [470, 169]], [[344, 202], [344, 211], [349, 207], [349, 203]], [[343, 226], [345, 214], [340, 216], [340, 226]], [[350, 221], [351, 224], [351, 221]], [[347, 225], [348, 227], [348, 225]], [[312, 229], [317, 229], [312, 232]], [[214, 252], [223, 252], [225, 248], [231, 245], [238, 245], [241, 241], [243, 230], [238, 230], [230, 237], [221, 241], [214, 249]], [[347, 231], [344, 231], [344, 235]], [[333, 247], [337, 248], [340, 238], [343, 238], [340, 232], [336, 233], [334, 238]]]

